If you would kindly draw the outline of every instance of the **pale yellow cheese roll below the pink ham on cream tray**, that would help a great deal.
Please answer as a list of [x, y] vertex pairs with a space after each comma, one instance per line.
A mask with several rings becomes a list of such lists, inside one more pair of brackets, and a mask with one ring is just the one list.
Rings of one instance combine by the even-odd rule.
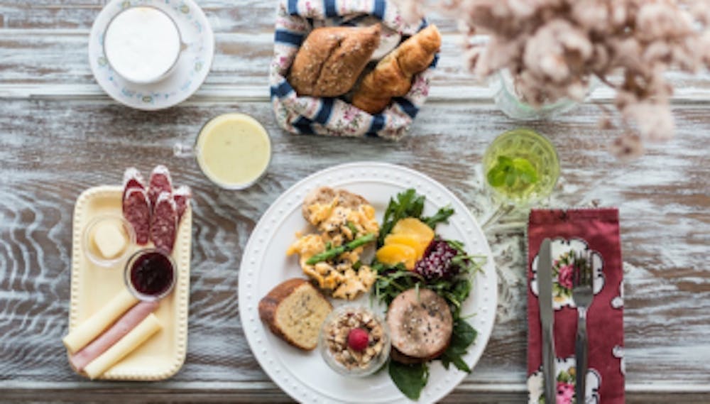
[[89, 363], [84, 371], [89, 378], [97, 378], [107, 371], [111, 366], [117, 364], [121, 359], [130, 354], [134, 349], [141, 346], [153, 334], [163, 328], [153, 313], [146, 317], [136, 328], [119, 339], [111, 348], [107, 349], [101, 356]]

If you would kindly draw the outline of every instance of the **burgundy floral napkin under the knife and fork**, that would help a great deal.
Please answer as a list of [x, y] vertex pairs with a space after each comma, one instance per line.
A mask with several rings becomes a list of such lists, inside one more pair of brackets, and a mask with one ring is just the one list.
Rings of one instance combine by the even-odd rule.
[[[537, 302], [537, 255], [552, 240], [552, 305], [555, 308], [557, 403], [576, 403], [571, 251], [589, 250], [594, 302], [587, 312], [589, 371], [586, 403], [624, 402], [623, 271], [618, 209], [532, 209], [528, 223], [528, 403], [545, 401], [542, 334]], [[581, 403], [581, 400], [580, 400]]]

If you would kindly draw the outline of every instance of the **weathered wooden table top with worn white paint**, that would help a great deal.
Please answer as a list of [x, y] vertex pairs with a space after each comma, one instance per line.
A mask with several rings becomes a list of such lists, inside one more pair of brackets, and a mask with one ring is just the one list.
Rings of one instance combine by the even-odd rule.
[[[291, 136], [268, 100], [275, 1], [199, 2], [216, 33], [207, 82], [165, 111], [123, 107], [102, 92], [87, 62], [100, 0], [0, 0], [0, 400], [289, 401], [246, 344], [237, 282], [258, 218], [297, 180], [343, 162], [405, 165], [439, 180], [482, 220], [492, 213], [481, 155], [519, 126], [491, 102], [459, 59], [454, 23], [444, 31], [432, 97], [406, 138]], [[559, 150], [552, 206], [621, 210], [629, 403], [710, 401], [710, 94], [708, 77], [674, 77], [677, 138], [624, 165], [606, 152], [599, 107], [586, 103], [528, 126]], [[610, 93], [594, 93], [609, 104]], [[249, 190], [219, 190], [171, 148], [207, 119], [241, 111], [271, 133], [273, 163]], [[124, 168], [165, 163], [195, 192], [187, 359], [168, 381], [89, 382], [67, 365], [72, 207], [87, 187], [116, 184]], [[525, 401], [524, 214], [486, 229], [499, 277], [496, 325], [484, 356], [447, 402]]]

